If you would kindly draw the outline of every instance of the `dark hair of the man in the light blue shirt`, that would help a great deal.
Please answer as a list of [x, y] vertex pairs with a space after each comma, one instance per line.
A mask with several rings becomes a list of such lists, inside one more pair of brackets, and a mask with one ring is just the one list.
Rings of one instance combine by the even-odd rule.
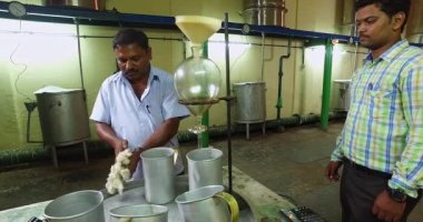
[[112, 47], [114, 49], [116, 49], [118, 46], [121, 46], [121, 44], [134, 44], [134, 43], [140, 46], [142, 49], [146, 49], [146, 50], [149, 48], [147, 36], [142, 31], [136, 30], [136, 29], [120, 30], [114, 38]]

